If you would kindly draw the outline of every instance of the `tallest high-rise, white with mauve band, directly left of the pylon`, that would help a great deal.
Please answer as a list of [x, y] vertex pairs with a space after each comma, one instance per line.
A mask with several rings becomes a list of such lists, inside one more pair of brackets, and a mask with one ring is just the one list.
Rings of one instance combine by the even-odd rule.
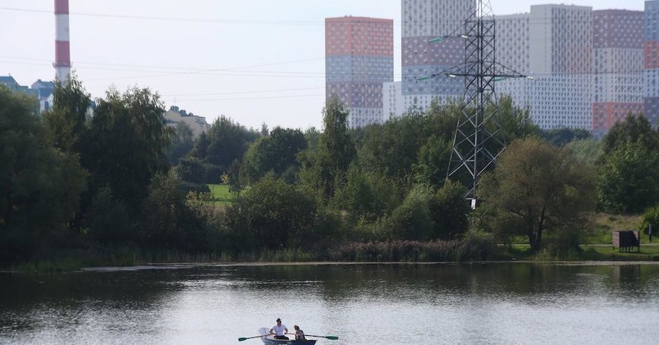
[[[440, 73], [465, 61], [465, 43], [459, 38], [465, 20], [474, 13], [475, 0], [402, 0], [402, 109], [426, 108], [462, 97], [461, 78], [416, 78]], [[433, 38], [444, 38], [428, 43]]]

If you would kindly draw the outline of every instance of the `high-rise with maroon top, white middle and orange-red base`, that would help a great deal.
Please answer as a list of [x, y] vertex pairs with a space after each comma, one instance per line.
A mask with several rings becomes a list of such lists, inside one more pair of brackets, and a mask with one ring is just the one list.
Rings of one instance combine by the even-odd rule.
[[601, 135], [643, 110], [643, 12], [593, 11], [592, 38], [592, 132]]

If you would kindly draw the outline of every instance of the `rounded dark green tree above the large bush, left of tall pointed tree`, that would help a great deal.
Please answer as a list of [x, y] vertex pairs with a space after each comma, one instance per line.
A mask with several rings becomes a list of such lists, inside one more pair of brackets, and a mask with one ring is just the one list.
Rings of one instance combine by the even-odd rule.
[[269, 136], [252, 143], [245, 153], [242, 169], [246, 181], [258, 181], [272, 171], [276, 177], [287, 177], [285, 179], [292, 183], [294, 171], [299, 169], [297, 155], [304, 149], [306, 140], [299, 129], [276, 127]]

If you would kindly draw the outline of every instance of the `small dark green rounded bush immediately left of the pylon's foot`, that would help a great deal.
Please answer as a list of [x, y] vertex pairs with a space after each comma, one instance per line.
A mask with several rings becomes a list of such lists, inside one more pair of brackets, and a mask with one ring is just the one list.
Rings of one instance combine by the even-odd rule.
[[433, 239], [454, 239], [467, 231], [471, 209], [464, 198], [466, 193], [463, 185], [450, 180], [435, 192], [430, 199]]

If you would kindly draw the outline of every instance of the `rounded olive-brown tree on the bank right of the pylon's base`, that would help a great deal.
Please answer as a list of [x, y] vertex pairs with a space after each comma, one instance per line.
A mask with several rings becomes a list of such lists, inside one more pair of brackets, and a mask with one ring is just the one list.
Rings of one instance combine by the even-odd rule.
[[592, 171], [566, 149], [529, 138], [513, 142], [485, 174], [478, 197], [496, 208], [504, 224], [517, 225], [531, 250], [542, 246], [543, 233], [583, 224], [582, 213], [595, 205]]

